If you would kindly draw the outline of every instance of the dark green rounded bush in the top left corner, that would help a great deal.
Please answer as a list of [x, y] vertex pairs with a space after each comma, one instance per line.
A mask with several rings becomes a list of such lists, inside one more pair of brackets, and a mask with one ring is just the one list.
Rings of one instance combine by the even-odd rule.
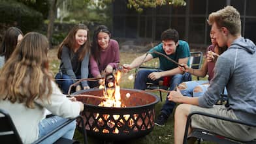
[[0, 25], [16, 26], [27, 33], [39, 29], [42, 25], [42, 14], [16, 1], [0, 1]]

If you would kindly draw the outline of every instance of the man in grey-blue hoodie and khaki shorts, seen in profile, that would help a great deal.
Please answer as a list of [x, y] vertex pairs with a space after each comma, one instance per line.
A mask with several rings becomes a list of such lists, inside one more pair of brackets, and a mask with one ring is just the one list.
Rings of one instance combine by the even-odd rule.
[[[256, 123], [256, 46], [251, 40], [241, 36], [240, 14], [234, 7], [227, 6], [213, 12], [208, 17], [208, 23], [212, 25], [217, 44], [229, 48], [217, 59], [214, 78], [203, 96], [191, 98], [182, 96], [180, 91], [172, 91], [168, 95], [168, 100], [185, 103], [176, 108], [176, 144], [182, 143], [187, 115], [193, 111]], [[230, 106], [215, 106], [225, 86]], [[191, 128], [202, 128], [240, 141], [256, 138], [256, 128], [201, 115], [193, 115]]]

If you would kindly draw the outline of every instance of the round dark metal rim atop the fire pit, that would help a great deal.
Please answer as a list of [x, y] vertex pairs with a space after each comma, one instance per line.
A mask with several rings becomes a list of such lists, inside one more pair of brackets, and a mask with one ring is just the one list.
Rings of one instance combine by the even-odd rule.
[[[83, 90], [81, 90], [81, 91], [76, 91], [75, 93], [72, 93], [72, 94], [82, 94], [82, 93], [84, 93], [84, 92], [90, 92], [90, 91], [99, 91], [99, 90], [101, 90], [101, 89], [99, 89], [99, 88], [94, 88], [94, 89], [83, 89]], [[85, 106], [90, 106], [90, 107], [93, 107], [93, 108], [100, 108], [100, 109], [135, 109], [135, 108], [140, 108], [140, 107], [151, 107], [152, 105], [155, 105], [155, 104], [157, 104], [159, 101], [160, 101], [160, 98], [156, 95], [156, 94], [154, 94], [154, 93], [148, 93], [148, 92], [146, 92], [146, 91], [143, 91], [143, 90], [140, 90], [140, 89], [123, 89], [123, 88], [121, 88], [120, 90], [127, 90], [127, 91], [135, 91], [136, 93], [138, 92], [138, 93], [140, 93], [140, 92], [142, 92], [142, 93], [146, 93], [146, 94], [150, 94], [151, 96], [153, 96], [153, 97], [155, 97], [155, 101], [153, 101], [153, 102], [151, 102], [150, 104], [145, 104], [145, 105], [140, 105], [140, 106], [129, 106], [129, 107], [127, 107], [127, 108], [118, 108], [118, 107], [103, 107], [103, 106], [95, 106], [95, 105], [93, 105], [93, 104], [86, 104], [86, 103], [84, 103], [84, 105]], [[103, 89], [102, 89], [102, 91], [103, 91]]]

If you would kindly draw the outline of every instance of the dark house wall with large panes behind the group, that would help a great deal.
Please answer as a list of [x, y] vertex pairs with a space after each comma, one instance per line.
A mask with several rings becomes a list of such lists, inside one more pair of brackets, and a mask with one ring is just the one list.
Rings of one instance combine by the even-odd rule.
[[206, 22], [211, 12], [227, 5], [235, 7], [241, 16], [242, 36], [256, 42], [255, 0], [186, 0], [186, 6], [165, 5], [144, 8], [141, 14], [126, 7], [127, 0], [114, 1], [112, 36], [116, 38], [157, 41], [161, 33], [173, 28], [191, 48], [206, 48], [210, 44], [210, 27]]

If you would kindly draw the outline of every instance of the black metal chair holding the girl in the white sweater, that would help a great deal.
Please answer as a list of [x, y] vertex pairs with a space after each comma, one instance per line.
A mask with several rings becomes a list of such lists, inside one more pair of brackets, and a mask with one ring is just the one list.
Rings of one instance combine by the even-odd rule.
[[[84, 129], [84, 144], [88, 143], [88, 139], [86, 136], [86, 131], [84, 128], [84, 119], [79, 115], [78, 117], [74, 119], [69, 119], [69, 121], [64, 122], [59, 127], [57, 127], [52, 132], [46, 134], [46, 136], [40, 137], [40, 139], [37, 139], [33, 142], [33, 144], [40, 143], [44, 139], [46, 139], [49, 136], [52, 136], [52, 134], [56, 133], [58, 130], [66, 126], [67, 124], [71, 123], [75, 119], [80, 119], [82, 122], [82, 126]], [[22, 144], [22, 139], [20, 138], [20, 135], [18, 134], [18, 131], [16, 130], [14, 123], [12, 122], [12, 119], [10, 118], [10, 115], [7, 113], [7, 111], [0, 109], [0, 143], [17, 143]], [[63, 137], [59, 138], [56, 142], [56, 144], [68, 144], [68, 143], [74, 143], [71, 139], [65, 139]]]

